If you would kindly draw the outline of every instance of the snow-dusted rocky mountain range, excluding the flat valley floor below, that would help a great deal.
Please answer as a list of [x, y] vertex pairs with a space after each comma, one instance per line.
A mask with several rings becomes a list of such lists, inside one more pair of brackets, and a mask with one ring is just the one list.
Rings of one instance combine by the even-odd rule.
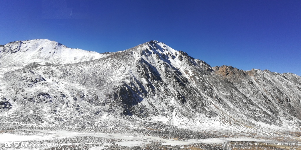
[[300, 76], [211, 67], [158, 41], [107, 54], [16, 41], [0, 48], [0, 61], [7, 125], [121, 128], [135, 122], [138, 132], [143, 122], [162, 131], [173, 122], [206, 135], [249, 137], [301, 128]]

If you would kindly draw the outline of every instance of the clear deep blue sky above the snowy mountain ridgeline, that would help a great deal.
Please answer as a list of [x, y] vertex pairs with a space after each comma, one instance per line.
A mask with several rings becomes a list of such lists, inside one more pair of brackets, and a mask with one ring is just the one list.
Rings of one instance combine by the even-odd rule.
[[301, 0], [0, 2], [0, 44], [115, 52], [157, 40], [211, 66], [301, 75]]

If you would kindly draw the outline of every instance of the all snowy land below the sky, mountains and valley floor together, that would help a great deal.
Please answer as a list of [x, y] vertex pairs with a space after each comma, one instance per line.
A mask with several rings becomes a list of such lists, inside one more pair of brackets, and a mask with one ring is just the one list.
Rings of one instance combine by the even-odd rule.
[[158, 41], [103, 54], [16, 41], [0, 46], [0, 61], [0, 145], [300, 149], [293, 73], [211, 67]]

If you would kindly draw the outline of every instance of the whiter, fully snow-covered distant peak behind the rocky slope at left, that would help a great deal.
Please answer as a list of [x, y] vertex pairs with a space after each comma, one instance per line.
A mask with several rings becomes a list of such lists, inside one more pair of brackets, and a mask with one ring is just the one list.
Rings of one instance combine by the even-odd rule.
[[24, 67], [30, 63], [77, 63], [104, 56], [98, 52], [68, 48], [46, 39], [15, 41], [0, 47], [0, 67]]

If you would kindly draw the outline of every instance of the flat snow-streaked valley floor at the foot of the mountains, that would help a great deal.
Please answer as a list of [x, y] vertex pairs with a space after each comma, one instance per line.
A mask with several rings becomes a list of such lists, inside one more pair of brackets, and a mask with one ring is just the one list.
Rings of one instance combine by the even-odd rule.
[[[151, 133], [155, 129], [145, 129], [144, 132]], [[235, 137], [234, 135], [214, 138], [180, 139], [173, 137], [168, 140], [166, 137], [148, 136], [138, 132], [125, 131], [103, 132], [97, 130], [33, 130], [16, 129], [0, 131], [0, 149], [41, 149], [41, 147], [30, 144], [61, 144], [60, 146], [42, 146], [47, 150], [67, 149], [301, 149], [300, 138], [289, 137], [264, 139], [259, 137]], [[164, 132], [164, 131], [163, 131]], [[177, 131], [175, 131], [177, 132]], [[216, 133], [222, 135], [223, 133]], [[189, 137], [189, 135], [188, 135]], [[7, 143], [12, 142], [11, 148]], [[14, 142], [28, 142], [27, 148], [14, 147]], [[5, 145], [6, 143], [6, 145]], [[294, 146], [281, 146], [281, 143], [294, 144]], [[282, 144], [283, 145], [283, 144]], [[6, 146], [6, 147], [5, 147]]]

